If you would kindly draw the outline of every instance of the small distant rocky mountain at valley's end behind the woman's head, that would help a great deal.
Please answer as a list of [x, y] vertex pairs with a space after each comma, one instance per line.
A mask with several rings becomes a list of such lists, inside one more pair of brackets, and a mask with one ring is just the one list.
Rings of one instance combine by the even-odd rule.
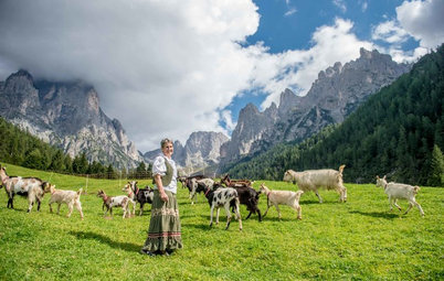
[[[220, 148], [226, 141], [229, 141], [229, 137], [221, 132], [192, 132], [186, 145], [182, 145], [180, 141], [175, 141], [172, 159], [184, 174], [192, 174], [216, 165], [220, 161]], [[146, 162], [152, 163], [160, 153], [160, 149], [149, 151], [144, 154], [144, 159]]]

